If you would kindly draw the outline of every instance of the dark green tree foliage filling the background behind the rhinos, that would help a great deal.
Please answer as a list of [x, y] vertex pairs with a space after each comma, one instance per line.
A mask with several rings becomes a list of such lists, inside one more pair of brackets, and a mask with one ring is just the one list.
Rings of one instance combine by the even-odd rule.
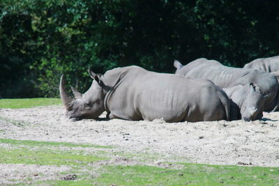
[[279, 2], [0, 0], [0, 96], [56, 97], [59, 77], [126, 65], [174, 72], [200, 57], [242, 67], [279, 53]]

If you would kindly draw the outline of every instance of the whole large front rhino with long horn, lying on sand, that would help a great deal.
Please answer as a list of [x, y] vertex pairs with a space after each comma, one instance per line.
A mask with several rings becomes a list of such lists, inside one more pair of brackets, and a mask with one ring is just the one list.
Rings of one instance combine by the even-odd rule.
[[130, 121], [163, 118], [167, 122], [229, 120], [229, 98], [207, 80], [156, 73], [137, 66], [114, 68], [93, 80], [84, 94], [71, 101], [66, 94], [63, 76], [60, 95], [66, 116], [79, 120], [98, 118], [107, 111], [109, 118]]

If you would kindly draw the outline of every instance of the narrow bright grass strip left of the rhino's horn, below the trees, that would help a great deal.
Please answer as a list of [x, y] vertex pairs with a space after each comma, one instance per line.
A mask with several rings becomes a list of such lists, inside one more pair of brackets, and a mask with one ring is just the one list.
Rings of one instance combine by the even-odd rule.
[[1, 99], [0, 109], [22, 109], [61, 104], [58, 98]]

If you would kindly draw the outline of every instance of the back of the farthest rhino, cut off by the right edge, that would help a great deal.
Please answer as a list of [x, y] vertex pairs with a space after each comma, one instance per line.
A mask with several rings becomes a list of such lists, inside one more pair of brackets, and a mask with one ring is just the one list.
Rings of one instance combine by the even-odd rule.
[[265, 72], [276, 72], [279, 70], [279, 56], [255, 59], [244, 65], [243, 68], [252, 68], [255, 70], [263, 70]]

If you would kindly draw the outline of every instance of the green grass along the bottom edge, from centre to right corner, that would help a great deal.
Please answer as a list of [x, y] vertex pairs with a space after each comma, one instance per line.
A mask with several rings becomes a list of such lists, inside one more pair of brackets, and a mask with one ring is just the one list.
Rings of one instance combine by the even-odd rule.
[[278, 168], [183, 164], [183, 169], [156, 166], [104, 166], [100, 185], [279, 185]]

